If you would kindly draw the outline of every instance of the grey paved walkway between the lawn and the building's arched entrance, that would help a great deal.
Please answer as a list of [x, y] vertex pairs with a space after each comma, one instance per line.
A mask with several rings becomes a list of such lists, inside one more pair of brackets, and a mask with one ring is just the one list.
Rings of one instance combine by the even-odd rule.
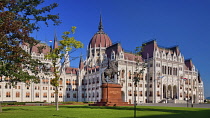
[[[168, 107], [187, 107], [187, 104], [173, 104], [173, 103], [144, 103], [138, 104], [138, 106], [168, 106]], [[188, 107], [195, 108], [210, 108], [210, 104], [188, 104]]]

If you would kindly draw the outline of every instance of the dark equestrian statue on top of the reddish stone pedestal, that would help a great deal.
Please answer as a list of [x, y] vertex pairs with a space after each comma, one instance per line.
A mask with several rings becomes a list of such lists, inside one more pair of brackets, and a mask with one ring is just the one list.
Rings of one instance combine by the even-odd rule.
[[[104, 70], [102, 74], [102, 82], [109, 83], [114, 82], [115, 75], [118, 73], [118, 63], [116, 61], [108, 60], [108, 67]], [[108, 79], [107, 79], [108, 77]]]

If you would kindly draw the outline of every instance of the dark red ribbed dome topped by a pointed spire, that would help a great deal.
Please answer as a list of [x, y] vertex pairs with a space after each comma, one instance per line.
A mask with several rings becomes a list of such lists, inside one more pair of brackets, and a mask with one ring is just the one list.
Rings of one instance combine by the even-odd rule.
[[112, 45], [111, 39], [103, 31], [103, 25], [102, 25], [102, 18], [101, 17], [100, 17], [98, 30], [99, 31], [90, 40], [90, 43], [89, 43], [88, 47], [91, 46], [91, 48], [96, 48], [96, 47], [109, 47], [109, 46], [111, 46]]

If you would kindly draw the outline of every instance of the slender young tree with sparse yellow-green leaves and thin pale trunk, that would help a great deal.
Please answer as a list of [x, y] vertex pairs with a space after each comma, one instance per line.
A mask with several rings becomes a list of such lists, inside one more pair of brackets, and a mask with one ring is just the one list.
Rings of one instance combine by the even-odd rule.
[[[78, 48], [82, 48], [83, 44], [80, 41], [77, 41], [74, 37], [69, 37], [70, 34], [75, 33], [76, 27], [72, 27], [70, 31], [63, 32], [62, 40], [59, 41], [59, 46], [52, 49], [46, 55], [47, 59], [52, 60], [52, 69], [54, 78], [50, 81], [51, 85], [55, 87], [55, 104], [56, 110], [58, 111], [58, 87], [59, 79], [63, 71], [65, 71], [65, 64], [67, 60], [65, 59], [69, 53], [74, 52]], [[60, 63], [60, 66], [59, 66]]]

